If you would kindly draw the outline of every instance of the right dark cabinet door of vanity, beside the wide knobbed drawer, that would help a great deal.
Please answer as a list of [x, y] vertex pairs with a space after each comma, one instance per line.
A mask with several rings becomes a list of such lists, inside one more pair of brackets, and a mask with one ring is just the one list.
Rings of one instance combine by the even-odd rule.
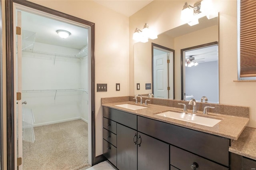
[[138, 170], [168, 170], [169, 146], [138, 132]]

